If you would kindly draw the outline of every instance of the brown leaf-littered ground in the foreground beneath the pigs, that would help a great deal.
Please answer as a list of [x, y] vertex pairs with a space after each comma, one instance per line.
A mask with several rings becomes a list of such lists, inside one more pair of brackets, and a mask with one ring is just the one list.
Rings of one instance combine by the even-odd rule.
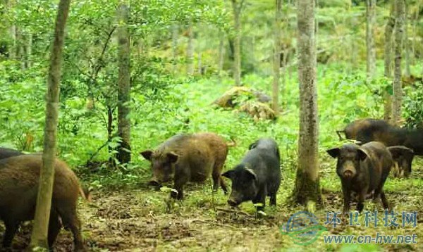
[[[417, 160], [408, 179], [388, 178], [386, 195], [393, 209], [417, 211], [422, 215], [423, 160]], [[324, 209], [315, 215], [323, 225], [327, 211], [341, 211], [341, 190], [331, 163], [322, 163]], [[334, 179], [334, 180], [333, 180]], [[145, 184], [145, 183], [142, 183]], [[207, 185], [207, 184], [206, 184]], [[154, 191], [145, 186], [130, 190], [102, 190], [92, 194], [92, 201], [80, 201], [79, 214], [82, 233], [90, 251], [422, 251], [422, 220], [417, 227], [408, 225], [390, 229], [379, 227], [350, 227], [338, 225], [328, 229], [308, 246], [293, 243], [291, 237], [280, 232], [293, 213], [303, 210], [289, 206], [287, 196], [293, 179], [282, 182], [278, 206], [266, 207], [266, 216], [257, 218], [252, 203], [243, 203], [240, 210], [226, 205], [221, 190], [212, 194], [209, 186], [192, 184], [185, 189], [183, 201], [171, 201], [168, 192]], [[351, 207], [353, 210], [354, 206]], [[367, 201], [364, 210], [379, 210], [381, 204]], [[381, 216], [379, 215], [381, 219]], [[401, 225], [401, 216], [398, 222]], [[1, 227], [0, 229], [3, 229]], [[3, 232], [3, 230], [0, 230]], [[327, 234], [417, 234], [417, 244], [324, 244]], [[22, 251], [29, 243], [30, 226], [20, 229], [13, 243], [14, 251]], [[71, 233], [62, 230], [56, 241], [56, 251], [71, 251]]]

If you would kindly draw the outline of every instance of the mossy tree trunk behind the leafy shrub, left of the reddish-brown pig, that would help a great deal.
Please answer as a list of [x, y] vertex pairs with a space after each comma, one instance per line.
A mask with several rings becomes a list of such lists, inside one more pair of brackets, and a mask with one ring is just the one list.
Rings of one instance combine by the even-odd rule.
[[128, 6], [121, 0], [118, 6], [118, 136], [121, 144], [118, 146], [117, 159], [119, 163], [130, 162], [130, 37], [128, 32]]

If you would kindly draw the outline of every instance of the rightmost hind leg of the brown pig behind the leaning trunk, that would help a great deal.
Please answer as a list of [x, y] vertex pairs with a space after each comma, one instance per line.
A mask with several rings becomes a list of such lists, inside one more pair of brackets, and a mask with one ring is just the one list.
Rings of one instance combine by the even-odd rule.
[[76, 215], [76, 206], [70, 206], [69, 203], [59, 202], [59, 215], [63, 220], [63, 225], [71, 229], [73, 234], [73, 244], [75, 245], [75, 251], [85, 251], [82, 235], [81, 235], [81, 223]]

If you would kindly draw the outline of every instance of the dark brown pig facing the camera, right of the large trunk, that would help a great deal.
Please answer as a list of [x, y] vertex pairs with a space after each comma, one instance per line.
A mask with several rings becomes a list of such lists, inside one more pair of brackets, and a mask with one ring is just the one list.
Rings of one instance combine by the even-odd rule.
[[350, 210], [352, 192], [358, 196], [359, 212], [363, 210], [364, 199], [367, 199], [369, 194], [373, 199], [380, 196], [384, 208], [389, 209], [383, 187], [393, 166], [393, 159], [384, 144], [377, 141], [362, 146], [344, 144], [341, 148], [327, 150], [327, 153], [338, 159], [336, 173], [341, 179], [344, 213]]

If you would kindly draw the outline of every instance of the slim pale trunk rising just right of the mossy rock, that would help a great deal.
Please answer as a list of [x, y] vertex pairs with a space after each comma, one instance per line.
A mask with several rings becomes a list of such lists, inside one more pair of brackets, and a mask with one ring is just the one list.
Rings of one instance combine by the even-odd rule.
[[[281, 75], [281, 8], [282, 0], [275, 0], [274, 26], [274, 79], [272, 84], [272, 108], [279, 114], [279, 76]], [[285, 53], [284, 53], [285, 54]]]

